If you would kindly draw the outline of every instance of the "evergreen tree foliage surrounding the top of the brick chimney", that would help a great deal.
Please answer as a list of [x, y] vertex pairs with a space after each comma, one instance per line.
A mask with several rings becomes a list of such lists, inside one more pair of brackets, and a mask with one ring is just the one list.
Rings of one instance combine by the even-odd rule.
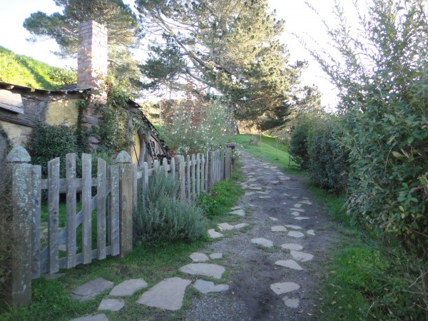
[[54, 39], [61, 57], [74, 57], [78, 49], [78, 26], [94, 20], [108, 29], [108, 71], [118, 81], [128, 83], [133, 91], [140, 85], [138, 63], [131, 49], [135, 48], [143, 34], [137, 16], [122, 0], [54, 0], [62, 9], [47, 15], [37, 11], [24, 21], [31, 41]]

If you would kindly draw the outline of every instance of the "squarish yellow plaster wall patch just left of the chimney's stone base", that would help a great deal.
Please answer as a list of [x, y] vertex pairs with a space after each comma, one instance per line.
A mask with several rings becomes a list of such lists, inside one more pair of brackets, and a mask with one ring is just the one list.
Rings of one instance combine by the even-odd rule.
[[49, 101], [46, 107], [46, 123], [51, 126], [58, 126], [63, 123], [68, 123], [68, 126], [76, 125], [78, 117], [76, 103], [78, 101], [79, 99]]

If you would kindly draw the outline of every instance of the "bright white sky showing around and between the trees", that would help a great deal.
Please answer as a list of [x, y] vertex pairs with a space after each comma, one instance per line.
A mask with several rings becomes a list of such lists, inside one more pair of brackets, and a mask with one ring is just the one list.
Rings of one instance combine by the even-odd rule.
[[[124, 2], [133, 6], [133, 0], [124, 0]], [[308, 0], [308, 2], [320, 11], [320, 16], [323, 19], [327, 21], [332, 19], [331, 11], [334, 0]], [[22, 26], [24, 19], [36, 11], [43, 11], [46, 14], [60, 11], [53, 0], [0, 0], [0, 3], [0, 46], [10, 49], [16, 54], [31, 56], [52, 66], [76, 66], [76, 61], [63, 60], [51, 54], [51, 51], [58, 50], [55, 41], [48, 40], [37, 43], [26, 41], [31, 35]], [[352, 0], [340, 0], [340, 3], [345, 7], [345, 10], [349, 7], [350, 11], [353, 11]], [[320, 19], [312, 10], [307, 8], [305, 0], [268, 0], [268, 4], [270, 9], [276, 9], [278, 18], [285, 20], [285, 33], [282, 36], [282, 42], [287, 45], [290, 51], [291, 61], [307, 60], [310, 63], [310, 67], [303, 75], [302, 83], [317, 85], [323, 94], [322, 103], [326, 106], [335, 106], [335, 88], [327, 81], [320, 67], [312, 60], [303, 46], [294, 36], [289, 34], [289, 32], [294, 32], [304, 37], [305, 34], [310, 34], [320, 44], [325, 44], [329, 39]]]

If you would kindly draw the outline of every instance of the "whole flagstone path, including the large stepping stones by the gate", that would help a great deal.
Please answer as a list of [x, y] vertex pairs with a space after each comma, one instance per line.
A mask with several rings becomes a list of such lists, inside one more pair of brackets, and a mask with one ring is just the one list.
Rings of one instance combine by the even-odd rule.
[[[192, 287], [201, 295], [192, 296], [184, 320], [317, 319], [320, 265], [327, 260], [323, 250], [335, 238], [335, 231], [309, 199], [300, 178], [245, 153], [241, 162], [245, 195], [230, 212], [231, 217], [241, 217], [240, 223], [220, 223], [208, 230], [213, 239], [208, 250], [192, 253], [177, 277], [145, 290], [138, 305], [180, 310]], [[227, 278], [223, 276], [226, 271]], [[103, 310], [121, 310], [123, 297], [148, 285], [134, 279], [112, 287], [112, 282], [100, 278], [73, 290], [71, 297], [82, 301], [106, 292], [100, 313], [75, 320], [108, 320]]]

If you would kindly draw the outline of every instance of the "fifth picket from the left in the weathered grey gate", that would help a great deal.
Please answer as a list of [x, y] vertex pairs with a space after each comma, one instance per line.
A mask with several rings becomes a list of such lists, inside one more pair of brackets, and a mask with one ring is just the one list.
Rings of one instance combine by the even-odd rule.
[[106, 258], [106, 176], [107, 176], [107, 164], [101, 158], [98, 158], [98, 171], [96, 177], [98, 179], [98, 186], [96, 188], [96, 248], [98, 260]]

